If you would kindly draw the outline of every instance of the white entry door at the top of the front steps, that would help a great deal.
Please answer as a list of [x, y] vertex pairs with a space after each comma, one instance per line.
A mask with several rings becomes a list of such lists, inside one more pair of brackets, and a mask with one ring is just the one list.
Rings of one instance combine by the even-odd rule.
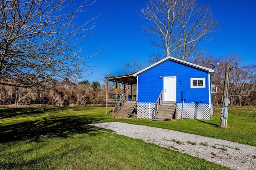
[[176, 77], [164, 77], [164, 101], [176, 101]]

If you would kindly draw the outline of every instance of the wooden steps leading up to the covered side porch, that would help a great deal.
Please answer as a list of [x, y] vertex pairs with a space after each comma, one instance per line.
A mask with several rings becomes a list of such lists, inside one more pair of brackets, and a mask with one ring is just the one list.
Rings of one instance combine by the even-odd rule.
[[114, 118], [126, 119], [130, 117], [136, 106], [136, 101], [126, 101], [124, 105], [121, 107], [121, 109], [116, 113]]

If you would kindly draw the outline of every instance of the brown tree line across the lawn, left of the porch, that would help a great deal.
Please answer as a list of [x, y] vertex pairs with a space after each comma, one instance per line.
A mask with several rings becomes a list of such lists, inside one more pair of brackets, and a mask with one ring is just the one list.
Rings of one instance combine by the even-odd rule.
[[[68, 79], [45, 88], [16, 88], [0, 85], [0, 105], [86, 106], [105, 104], [105, 88], [99, 82], [79, 83]], [[103, 86], [104, 87], [104, 86]], [[16, 98], [17, 92], [17, 98]]]

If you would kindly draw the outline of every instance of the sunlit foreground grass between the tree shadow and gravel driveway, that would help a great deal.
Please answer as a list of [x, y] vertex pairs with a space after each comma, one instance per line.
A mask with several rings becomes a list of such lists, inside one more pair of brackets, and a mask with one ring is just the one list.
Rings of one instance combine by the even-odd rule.
[[[1, 148], [3, 169], [228, 169], [187, 154], [111, 132], [94, 131], [64, 139], [19, 141]], [[207, 168], [207, 169], [208, 169]]]

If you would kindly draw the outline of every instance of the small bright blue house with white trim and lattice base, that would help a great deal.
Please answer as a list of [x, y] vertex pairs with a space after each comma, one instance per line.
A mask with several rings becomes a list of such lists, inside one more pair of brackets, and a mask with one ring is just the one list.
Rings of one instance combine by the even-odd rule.
[[166, 57], [132, 76], [130, 80], [136, 78], [138, 118], [211, 118], [214, 70]]

